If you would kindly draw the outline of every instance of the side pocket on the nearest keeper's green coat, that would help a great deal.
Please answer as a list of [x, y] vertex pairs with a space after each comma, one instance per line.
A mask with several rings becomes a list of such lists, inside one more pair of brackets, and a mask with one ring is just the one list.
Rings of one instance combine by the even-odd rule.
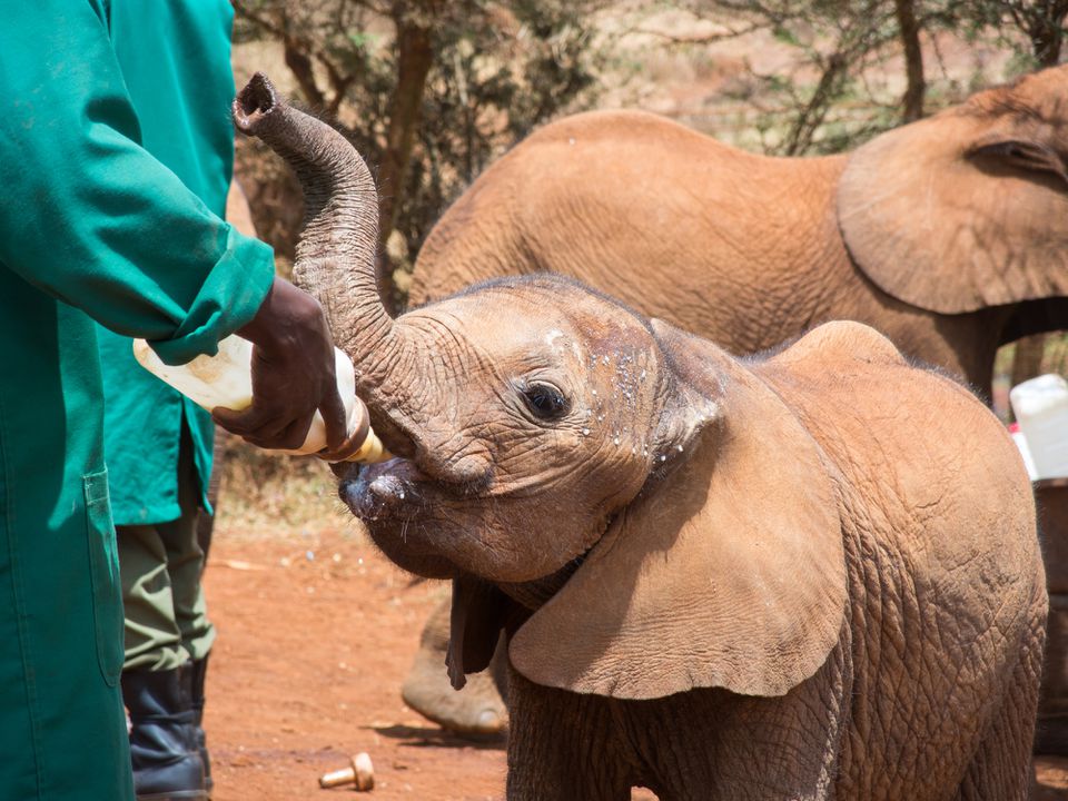
[[86, 534], [92, 578], [92, 616], [97, 634], [97, 661], [108, 686], [122, 672], [122, 585], [119, 554], [111, 522], [108, 471], [82, 476], [86, 493]]

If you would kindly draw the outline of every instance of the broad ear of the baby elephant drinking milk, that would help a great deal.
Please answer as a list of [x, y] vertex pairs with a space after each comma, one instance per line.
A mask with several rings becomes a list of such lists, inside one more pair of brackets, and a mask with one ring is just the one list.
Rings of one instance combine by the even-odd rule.
[[656, 432], [666, 474], [516, 632], [512, 663], [540, 684], [620, 699], [716, 686], [782, 695], [819, 670], [844, 622], [824, 457], [755, 375], [653, 327], [673, 386]]

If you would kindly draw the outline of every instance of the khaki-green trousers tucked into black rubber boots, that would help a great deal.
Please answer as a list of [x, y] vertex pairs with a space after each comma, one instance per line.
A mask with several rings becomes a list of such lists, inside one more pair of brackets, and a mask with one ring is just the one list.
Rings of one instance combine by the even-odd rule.
[[122, 603], [126, 609], [123, 670], [172, 670], [201, 660], [215, 642], [200, 574], [197, 542], [200, 490], [185, 427], [178, 457], [178, 505], [169, 523], [117, 526]]

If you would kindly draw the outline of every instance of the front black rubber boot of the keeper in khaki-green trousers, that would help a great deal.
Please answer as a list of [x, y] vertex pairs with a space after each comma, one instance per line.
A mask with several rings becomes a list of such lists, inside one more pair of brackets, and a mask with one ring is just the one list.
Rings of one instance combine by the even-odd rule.
[[138, 801], [207, 801], [192, 709], [192, 664], [123, 671], [130, 758]]

